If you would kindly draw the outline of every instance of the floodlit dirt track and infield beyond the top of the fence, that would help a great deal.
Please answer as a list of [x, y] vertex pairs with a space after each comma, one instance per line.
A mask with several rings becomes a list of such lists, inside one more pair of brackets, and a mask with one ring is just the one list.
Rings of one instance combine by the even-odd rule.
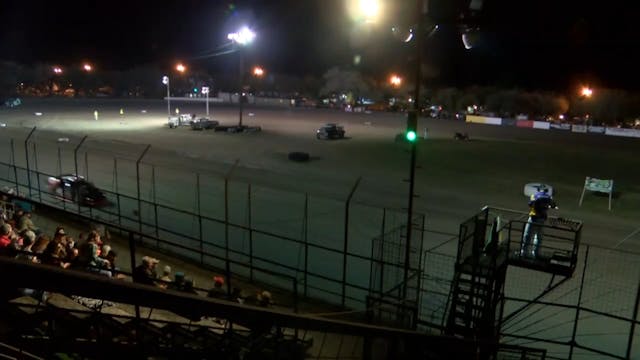
[[[172, 102], [175, 106], [181, 113], [204, 113], [200, 103]], [[222, 124], [237, 123], [233, 106], [212, 104], [211, 112]], [[262, 132], [227, 134], [168, 129], [161, 100], [26, 99], [20, 108], [0, 111], [0, 122], [18, 143], [36, 126], [42, 139], [88, 135], [93, 146], [132, 159], [150, 144], [147, 163], [221, 175], [238, 160], [234, 176], [243, 180], [342, 200], [361, 176], [354, 203], [406, 207], [409, 154], [394, 140], [404, 129], [403, 114], [249, 105], [244, 123], [259, 125]], [[344, 125], [347, 139], [317, 140], [315, 130], [328, 122]], [[430, 230], [456, 234], [459, 223], [486, 204], [526, 211], [524, 184], [542, 181], [557, 190], [557, 215], [585, 222], [583, 242], [640, 251], [640, 235], [634, 234], [640, 227], [640, 188], [632, 165], [639, 140], [451, 120], [421, 119], [419, 128], [420, 135], [428, 131], [419, 144], [415, 210], [427, 214]], [[468, 132], [471, 141], [453, 140], [456, 131]], [[308, 152], [312, 160], [291, 162], [291, 151]], [[606, 198], [591, 194], [578, 207], [585, 176], [616, 181], [613, 211]]]

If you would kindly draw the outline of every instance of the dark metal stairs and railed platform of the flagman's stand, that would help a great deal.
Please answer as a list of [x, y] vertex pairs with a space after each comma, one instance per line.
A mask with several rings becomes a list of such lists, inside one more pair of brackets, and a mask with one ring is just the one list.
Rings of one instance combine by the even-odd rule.
[[[480, 359], [496, 358], [505, 349], [500, 344], [500, 325], [509, 265], [565, 278], [576, 268], [581, 221], [550, 217], [541, 225], [544, 239], [537, 256], [527, 257], [521, 251], [526, 220], [523, 212], [485, 207], [460, 225], [455, 275], [443, 323], [447, 335], [476, 341]], [[539, 359], [545, 351], [527, 349], [526, 354]]]

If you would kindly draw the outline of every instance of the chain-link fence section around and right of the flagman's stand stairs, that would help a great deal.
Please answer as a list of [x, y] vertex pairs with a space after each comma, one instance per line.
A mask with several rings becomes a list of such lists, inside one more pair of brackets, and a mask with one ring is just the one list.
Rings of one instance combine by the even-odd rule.
[[[526, 217], [502, 215], [505, 229]], [[423, 255], [418, 322], [425, 330], [446, 326], [456, 250], [442, 245]], [[508, 267], [501, 343], [546, 349], [551, 359], [640, 358], [640, 254], [582, 245], [577, 258], [568, 277]]]

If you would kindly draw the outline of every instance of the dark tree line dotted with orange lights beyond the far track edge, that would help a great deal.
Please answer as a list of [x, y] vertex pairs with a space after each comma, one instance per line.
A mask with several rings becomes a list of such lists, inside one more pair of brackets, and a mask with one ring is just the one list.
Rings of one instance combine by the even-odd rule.
[[[188, 73], [167, 72], [161, 66], [149, 64], [123, 71], [94, 69], [84, 71], [80, 66], [63, 69], [56, 74], [49, 64], [21, 65], [0, 62], [0, 95], [23, 96], [110, 96], [160, 98], [166, 95], [162, 76], [169, 75], [172, 95], [199, 92], [209, 86], [211, 93], [236, 92], [240, 89], [237, 73], [210, 73], [189, 69]], [[243, 88], [263, 96], [308, 97], [319, 99], [344, 94], [343, 101], [356, 104], [363, 99], [388, 104], [389, 100], [407, 102], [412, 98], [414, 86], [410, 82], [392, 85], [386, 78], [365, 76], [354, 68], [334, 67], [322, 77], [269, 74], [254, 77], [247, 69]], [[592, 97], [553, 91], [505, 89], [491, 86], [429, 87], [428, 80], [421, 86], [420, 102], [423, 107], [441, 106], [447, 112], [465, 111], [478, 106], [496, 116], [525, 114], [530, 118], [556, 117], [564, 114], [570, 118], [586, 115], [608, 125], [630, 123], [640, 118], [640, 93], [621, 89], [595, 89]], [[26, 91], [29, 89], [30, 91]], [[215, 96], [215, 95], [212, 95]]]

